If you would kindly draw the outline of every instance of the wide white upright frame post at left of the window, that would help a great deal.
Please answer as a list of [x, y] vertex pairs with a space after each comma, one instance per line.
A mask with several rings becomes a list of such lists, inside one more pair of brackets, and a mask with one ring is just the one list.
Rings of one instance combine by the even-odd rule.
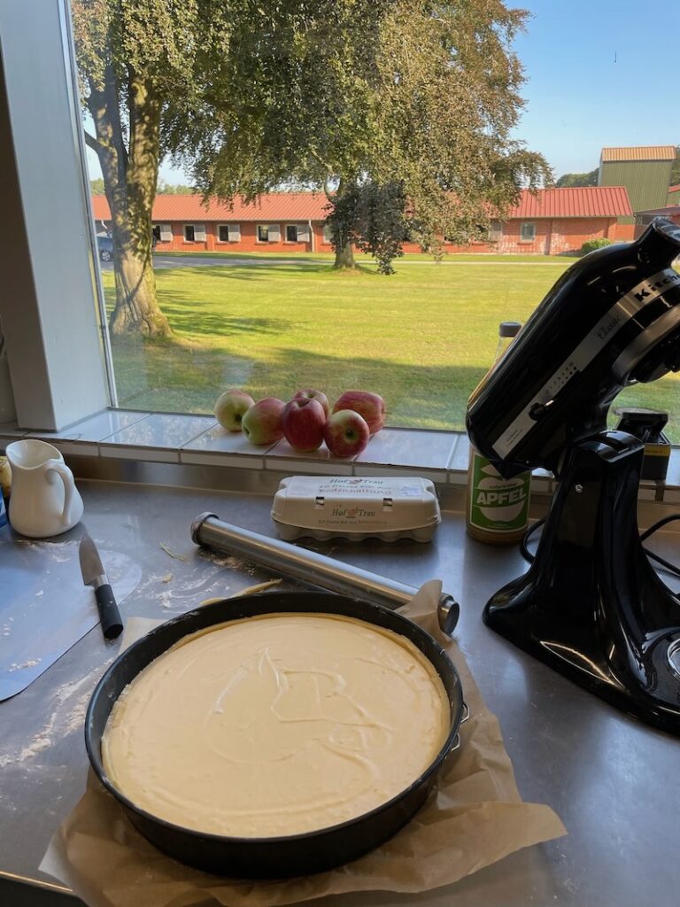
[[[0, 258], [12, 261], [5, 297], [22, 300], [14, 312], [0, 305], [9, 385], [19, 424], [57, 431], [118, 404], [67, 0], [44, 0], [40, 16], [34, 5], [0, 5], [0, 41], [2, 127], [12, 148], [4, 219], [12, 241]], [[58, 210], [69, 229], [54, 230], [45, 210]]]

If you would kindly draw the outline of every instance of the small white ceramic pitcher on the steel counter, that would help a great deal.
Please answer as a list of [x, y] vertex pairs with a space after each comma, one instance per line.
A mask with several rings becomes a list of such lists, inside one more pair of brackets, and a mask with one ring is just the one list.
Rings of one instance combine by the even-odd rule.
[[32, 539], [68, 532], [83, 516], [83, 498], [73, 473], [52, 444], [25, 438], [8, 444], [12, 467], [9, 522]]

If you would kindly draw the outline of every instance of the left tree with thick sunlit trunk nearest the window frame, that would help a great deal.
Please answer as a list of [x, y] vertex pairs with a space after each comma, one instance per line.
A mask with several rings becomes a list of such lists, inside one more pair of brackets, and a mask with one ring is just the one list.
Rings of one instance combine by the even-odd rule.
[[163, 119], [189, 109], [209, 54], [228, 34], [218, 0], [73, 0], [83, 107], [94, 134], [112, 217], [116, 304], [113, 335], [170, 333], [156, 299], [151, 209], [163, 151]]

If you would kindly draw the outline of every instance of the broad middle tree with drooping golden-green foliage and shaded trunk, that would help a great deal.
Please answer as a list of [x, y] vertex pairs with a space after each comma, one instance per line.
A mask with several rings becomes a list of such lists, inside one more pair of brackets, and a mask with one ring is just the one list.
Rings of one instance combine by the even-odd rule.
[[[248, 53], [237, 69], [213, 80], [213, 141], [185, 136], [200, 149], [194, 178], [230, 198], [270, 188], [278, 171], [345, 214], [345, 194], [398, 184], [423, 242], [480, 235], [521, 188], [551, 180], [546, 161], [510, 138], [523, 81], [511, 43], [524, 20], [501, 0], [279, 5], [266, 28], [239, 35]], [[233, 82], [251, 86], [237, 107]], [[330, 223], [335, 263], [352, 267], [348, 221]]]

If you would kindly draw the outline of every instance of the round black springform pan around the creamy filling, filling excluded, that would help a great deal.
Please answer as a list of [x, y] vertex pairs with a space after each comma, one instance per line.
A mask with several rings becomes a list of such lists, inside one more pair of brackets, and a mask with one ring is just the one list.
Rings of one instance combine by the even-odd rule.
[[[401, 634], [423, 652], [442, 678], [451, 707], [449, 734], [432, 765], [401, 794], [369, 813], [318, 831], [285, 837], [238, 838], [201, 834], [147, 813], [123, 796], [102, 765], [102, 734], [122, 690], [154, 658], [191, 633], [228, 620], [287, 611], [340, 614], [364, 620]], [[226, 599], [188, 611], [151, 630], [123, 652], [92, 694], [85, 717], [85, 746], [102, 785], [121, 803], [132, 824], [161, 851], [209, 873], [243, 878], [283, 878], [319, 873], [355, 860], [392, 837], [413, 818], [432, 790], [444, 759], [458, 743], [464, 709], [461, 680], [451, 659], [432, 636], [413, 621], [366, 601], [325, 592], [267, 592]]]

